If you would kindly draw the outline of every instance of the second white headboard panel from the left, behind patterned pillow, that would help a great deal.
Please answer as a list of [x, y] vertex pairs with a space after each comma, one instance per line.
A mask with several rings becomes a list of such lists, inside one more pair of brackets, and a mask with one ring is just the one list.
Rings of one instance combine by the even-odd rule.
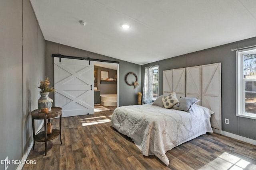
[[185, 97], [185, 68], [173, 69], [173, 92], [177, 98]]

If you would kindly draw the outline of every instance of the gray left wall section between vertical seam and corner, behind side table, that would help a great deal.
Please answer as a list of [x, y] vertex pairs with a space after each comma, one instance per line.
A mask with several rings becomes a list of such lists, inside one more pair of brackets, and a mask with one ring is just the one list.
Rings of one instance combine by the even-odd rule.
[[[29, 0], [23, 0], [23, 54], [22, 54], [22, 85], [23, 85], [23, 150], [26, 152], [33, 141], [30, 112], [38, 108], [40, 98], [38, 88], [40, 80], [44, 80], [45, 41], [34, 15]], [[35, 121], [35, 130], [40, 121]]]

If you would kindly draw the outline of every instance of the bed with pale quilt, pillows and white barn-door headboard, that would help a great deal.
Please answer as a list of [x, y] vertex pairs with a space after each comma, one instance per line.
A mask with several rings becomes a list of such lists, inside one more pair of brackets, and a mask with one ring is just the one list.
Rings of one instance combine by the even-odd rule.
[[142, 154], [168, 166], [168, 150], [207, 132], [221, 133], [221, 63], [163, 70], [162, 94], [153, 104], [117, 107], [112, 126]]

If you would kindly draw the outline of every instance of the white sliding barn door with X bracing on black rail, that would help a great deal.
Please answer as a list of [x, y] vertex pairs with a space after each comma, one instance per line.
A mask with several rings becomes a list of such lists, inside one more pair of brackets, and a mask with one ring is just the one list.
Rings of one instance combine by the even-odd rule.
[[94, 113], [94, 63], [54, 58], [54, 106], [62, 117]]

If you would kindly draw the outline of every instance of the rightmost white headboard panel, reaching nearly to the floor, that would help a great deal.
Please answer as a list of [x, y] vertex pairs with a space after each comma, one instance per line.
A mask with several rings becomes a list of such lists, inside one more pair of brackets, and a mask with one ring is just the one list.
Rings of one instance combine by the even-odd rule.
[[211, 125], [216, 133], [221, 133], [220, 63], [202, 65], [202, 106], [214, 111]]

